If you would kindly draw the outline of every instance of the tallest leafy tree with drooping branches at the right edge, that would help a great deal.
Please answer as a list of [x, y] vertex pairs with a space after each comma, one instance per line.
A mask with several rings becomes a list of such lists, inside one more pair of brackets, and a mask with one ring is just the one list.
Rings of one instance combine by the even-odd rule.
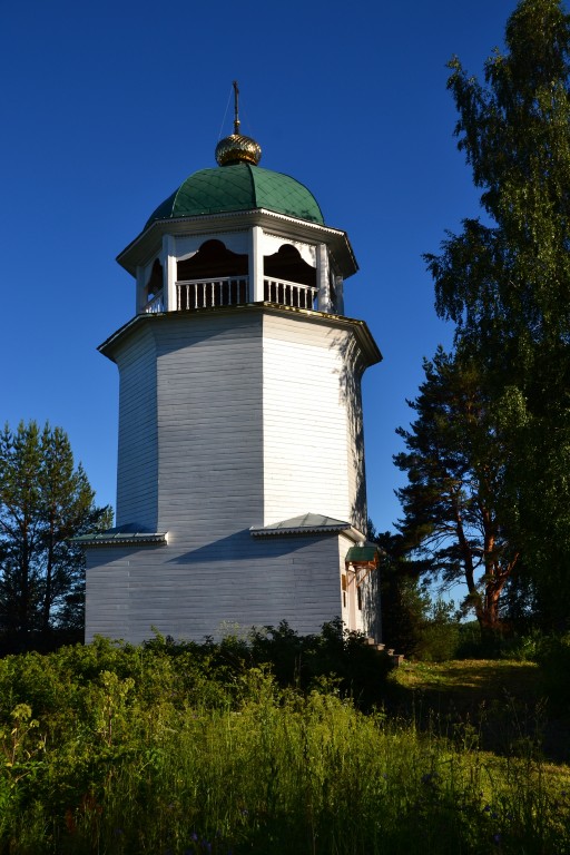
[[559, 0], [522, 0], [505, 42], [484, 85], [450, 63], [485, 219], [465, 219], [426, 261], [507, 452], [501, 519], [542, 626], [557, 628], [570, 621], [570, 18]]

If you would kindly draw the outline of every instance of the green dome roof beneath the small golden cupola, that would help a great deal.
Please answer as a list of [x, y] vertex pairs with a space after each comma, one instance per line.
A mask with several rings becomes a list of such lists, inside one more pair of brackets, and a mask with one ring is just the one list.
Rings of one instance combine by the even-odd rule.
[[239, 163], [200, 169], [190, 175], [158, 206], [145, 228], [155, 219], [225, 214], [254, 208], [266, 208], [324, 225], [318, 203], [303, 184], [288, 175]]

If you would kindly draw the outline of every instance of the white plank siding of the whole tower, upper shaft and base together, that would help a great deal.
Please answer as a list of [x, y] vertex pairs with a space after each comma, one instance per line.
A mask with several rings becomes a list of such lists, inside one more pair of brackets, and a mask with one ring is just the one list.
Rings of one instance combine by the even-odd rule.
[[[351, 330], [263, 307], [145, 316], [118, 335], [118, 524], [167, 546], [87, 550], [87, 639], [341, 616], [344, 537], [252, 538], [307, 511], [354, 519], [360, 390]], [[356, 450], [355, 450], [356, 449]], [[342, 543], [341, 543], [342, 541]]]

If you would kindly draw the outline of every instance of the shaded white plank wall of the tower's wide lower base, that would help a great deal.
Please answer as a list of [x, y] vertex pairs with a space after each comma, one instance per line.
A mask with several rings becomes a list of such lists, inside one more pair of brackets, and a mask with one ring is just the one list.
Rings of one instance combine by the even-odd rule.
[[88, 550], [86, 640], [138, 643], [151, 627], [203, 640], [224, 623], [248, 629], [282, 620], [304, 635], [341, 615], [338, 537], [247, 535], [239, 556], [218, 549], [209, 561], [185, 547]]

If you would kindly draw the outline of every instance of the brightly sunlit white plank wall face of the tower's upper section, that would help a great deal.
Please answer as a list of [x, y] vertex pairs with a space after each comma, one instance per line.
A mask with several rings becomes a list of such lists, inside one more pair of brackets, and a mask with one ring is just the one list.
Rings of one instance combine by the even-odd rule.
[[264, 523], [311, 511], [360, 527], [361, 372], [352, 332], [267, 315], [263, 358]]

